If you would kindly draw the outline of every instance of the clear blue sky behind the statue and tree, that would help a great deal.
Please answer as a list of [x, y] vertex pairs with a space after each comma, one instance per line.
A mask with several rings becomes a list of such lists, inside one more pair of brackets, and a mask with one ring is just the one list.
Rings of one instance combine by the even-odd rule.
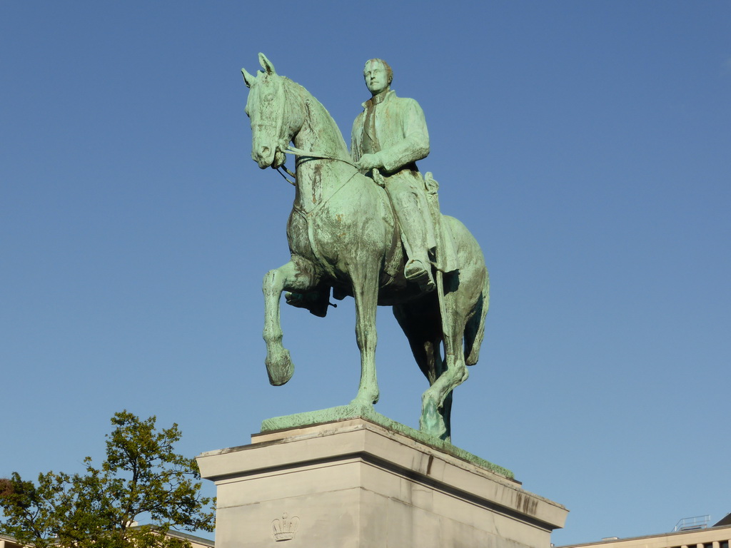
[[[251, 161], [239, 69], [266, 53], [347, 133], [382, 57], [491, 270], [455, 444], [567, 506], [556, 544], [719, 520], [730, 28], [700, 0], [1, 2], [0, 475], [80, 470], [124, 408], [194, 455], [355, 395], [352, 301], [285, 310], [297, 370], [268, 385], [260, 285], [293, 189]], [[377, 359], [377, 410], [416, 426], [385, 308]]]

